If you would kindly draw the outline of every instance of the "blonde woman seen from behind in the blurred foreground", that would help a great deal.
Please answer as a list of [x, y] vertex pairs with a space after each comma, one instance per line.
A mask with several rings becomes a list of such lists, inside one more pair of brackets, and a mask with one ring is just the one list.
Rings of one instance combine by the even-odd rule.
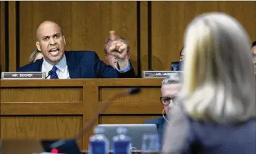
[[256, 153], [255, 76], [246, 31], [222, 13], [185, 33], [181, 106], [172, 106], [163, 153]]

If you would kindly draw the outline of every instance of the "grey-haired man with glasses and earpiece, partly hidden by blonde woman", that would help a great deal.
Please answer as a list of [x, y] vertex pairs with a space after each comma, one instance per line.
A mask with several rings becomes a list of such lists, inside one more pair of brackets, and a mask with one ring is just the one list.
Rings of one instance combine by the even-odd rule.
[[[181, 89], [180, 77], [181, 73], [172, 73], [172, 75], [163, 79], [161, 87], [162, 97], [160, 97], [160, 102], [163, 104], [163, 116], [149, 119], [143, 123], [156, 124], [161, 147], [165, 124], [169, 123], [167, 117], [169, 109], [172, 107], [172, 105], [174, 105], [175, 97], [178, 95]], [[164, 111], [166, 115], [164, 115]]]

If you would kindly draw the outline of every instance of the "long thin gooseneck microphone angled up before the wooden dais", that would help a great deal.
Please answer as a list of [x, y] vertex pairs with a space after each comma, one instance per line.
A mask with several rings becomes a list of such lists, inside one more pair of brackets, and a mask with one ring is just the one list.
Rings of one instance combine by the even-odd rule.
[[[95, 121], [98, 119], [98, 116], [102, 113], [104, 113], [105, 110], [107, 110], [107, 108], [109, 107], [109, 105], [111, 105], [113, 103], [114, 100], [120, 98], [120, 97], [125, 97], [128, 95], [135, 95], [140, 93], [140, 88], [129, 88], [128, 90], [126, 90], [125, 92], [122, 93], [118, 93], [116, 95], [114, 95], [113, 97], [111, 97], [109, 99], [108, 102], [106, 102], [103, 106], [101, 106], [98, 110], [97, 113], [95, 113], [95, 115], [93, 116], [93, 119], [91, 119], [86, 126], [84, 127], [84, 129], [82, 131], [80, 131], [80, 133], [78, 133], [77, 135], [75, 135], [75, 137], [71, 140], [75, 141], [75, 139], [79, 139], [80, 137], [82, 137], [82, 135], [84, 133], [86, 133], [87, 131], [89, 131], [89, 129], [91, 128], [91, 126], [93, 126], [93, 124], [95, 123]], [[68, 144], [71, 141], [68, 140], [64, 140], [64, 139], [60, 139], [57, 142], [54, 142], [53, 144], [51, 144], [51, 148], [59, 148], [59, 147], [64, 147], [65, 144]], [[67, 145], [68, 146], [68, 145]]]

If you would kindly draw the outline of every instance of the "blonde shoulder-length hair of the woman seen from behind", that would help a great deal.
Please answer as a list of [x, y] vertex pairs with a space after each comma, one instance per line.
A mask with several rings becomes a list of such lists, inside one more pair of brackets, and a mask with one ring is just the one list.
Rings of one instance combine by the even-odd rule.
[[181, 100], [190, 117], [219, 124], [256, 117], [250, 41], [236, 19], [217, 12], [196, 17], [184, 50]]

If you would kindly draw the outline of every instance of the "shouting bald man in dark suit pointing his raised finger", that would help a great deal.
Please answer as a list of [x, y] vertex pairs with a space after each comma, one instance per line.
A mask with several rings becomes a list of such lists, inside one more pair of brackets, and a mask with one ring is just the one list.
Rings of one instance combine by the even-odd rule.
[[[19, 68], [18, 72], [46, 72], [50, 79], [136, 77], [127, 59], [127, 46], [111, 44], [111, 52], [118, 59], [117, 69], [104, 64], [91, 51], [66, 51], [62, 29], [53, 21], [44, 21], [37, 28], [37, 49], [44, 58]], [[115, 42], [116, 37], [110, 38]], [[50, 73], [49, 73], [50, 72]]]

